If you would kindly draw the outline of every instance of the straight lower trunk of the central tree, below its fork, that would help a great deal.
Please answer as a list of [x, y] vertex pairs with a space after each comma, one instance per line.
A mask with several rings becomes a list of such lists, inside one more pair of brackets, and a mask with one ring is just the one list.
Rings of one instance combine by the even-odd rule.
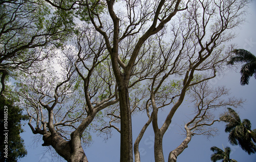
[[119, 87], [121, 145], [120, 161], [133, 161], [132, 117], [127, 86]]

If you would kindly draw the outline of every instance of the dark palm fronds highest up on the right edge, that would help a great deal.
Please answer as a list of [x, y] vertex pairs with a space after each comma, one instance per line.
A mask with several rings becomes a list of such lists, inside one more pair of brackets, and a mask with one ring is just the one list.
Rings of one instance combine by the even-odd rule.
[[236, 56], [232, 57], [227, 64], [233, 65], [234, 63], [245, 63], [240, 71], [242, 75], [240, 84], [248, 84], [252, 75], [256, 79], [256, 57], [243, 49], [233, 50], [232, 52], [235, 53]]

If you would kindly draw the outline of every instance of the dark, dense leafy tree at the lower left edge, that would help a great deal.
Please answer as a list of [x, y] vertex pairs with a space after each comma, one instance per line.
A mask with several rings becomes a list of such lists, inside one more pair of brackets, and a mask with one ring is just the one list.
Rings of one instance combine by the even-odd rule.
[[[27, 155], [24, 140], [19, 136], [23, 132], [21, 121], [28, 120], [22, 109], [14, 106], [13, 101], [0, 97], [1, 110], [1, 161], [17, 161]], [[8, 117], [8, 118], [6, 118]], [[8, 131], [5, 131], [8, 130]]]

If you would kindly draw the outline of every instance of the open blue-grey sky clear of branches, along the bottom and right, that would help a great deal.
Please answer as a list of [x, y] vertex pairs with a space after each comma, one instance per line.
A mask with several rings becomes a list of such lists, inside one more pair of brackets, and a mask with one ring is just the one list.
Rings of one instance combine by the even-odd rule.
[[[238, 49], [245, 49], [256, 55], [256, 1], [250, 5], [248, 10], [247, 22], [239, 29], [238, 37], [233, 40], [237, 43]], [[223, 75], [216, 77], [210, 82], [212, 86], [225, 85], [230, 89], [230, 96], [246, 99], [243, 104], [243, 108], [238, 108], [236, 111], [239, 113], [241, 119], [249, 119], [252, 125], [252, 129], [256, 128], [256, 79], [251, 78], [249, 85], [240, 85], [240, 69], [227, 70]], [[186, 118], [184, 118], [183, 112], [186, 110], [186, 103], [177, 110], [170, 128], [164, 135], [164, 156], [167, 161], [168, 153], [175, 149], [184, 140], [184, 136], [179, 133], [184, 126]], [[165, 112], [162, 112], [164, 116]], [[133, 117], [133, 142], [135, 141], [140, 129], [146, 122], [144, 115], [137, 114]], [[164, 119], [163, 119], [164, 120]], [[195, 135], [191, 139], [182, 154], [177, 158], [179, 162], [182, 161], [197, 161], [197, 162], [210, 162], [210, 147], [217, 146], [219, 148], [230, 147], [230, 158], [237, 161], [255, 162], [256, 154], [248, 155], [239, 146], [231, 146], [228, 142], [228, 133], [224, 132], [225, 123], [217, 123], [214, 125], [218, 127], [218, 135], [215, 137], [207, 138], [202, 135]], [[25, 146], [28, 151], [28, 155], [24, 158], [20, 158], [18, 161], [27, 162], [49, 162], [49, 161], [65, 161], [63, 158], [52, 154], [48, 147], [42, 147], [42, 137], [32, 133], [29, 126], [26, 124], [24, 127], [25, 132], [21, 134], [25, 141]], [[154, 133], [152, 125], [149, 126], [142, 141], [140, 143], [141, 161], [155, 161], [154, 160]], [[93, 143], [89, 148], [84, 151], [89, 161], [119, 161], [119, 147], [120, 137], [119, 134], [113, 130], [113, 136], [108, 141], [104, 141], [102, 137], [93, 136]], [[54, 156], [54, 158], [52, 158]]]

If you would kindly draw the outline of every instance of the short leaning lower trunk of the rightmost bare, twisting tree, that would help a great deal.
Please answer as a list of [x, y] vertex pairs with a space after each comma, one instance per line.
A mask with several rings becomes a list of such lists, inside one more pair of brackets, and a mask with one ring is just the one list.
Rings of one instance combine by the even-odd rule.
[[178, 155], [180, 155], [185, 150], [185, 148], [187, 148], [187, 144], [190, 142], [192, 136], [193, 134], [187, 130], [187, 136], [185, 140], [180, 144], [180, 146], [169, 153], [168, 162], [177, 161]]

